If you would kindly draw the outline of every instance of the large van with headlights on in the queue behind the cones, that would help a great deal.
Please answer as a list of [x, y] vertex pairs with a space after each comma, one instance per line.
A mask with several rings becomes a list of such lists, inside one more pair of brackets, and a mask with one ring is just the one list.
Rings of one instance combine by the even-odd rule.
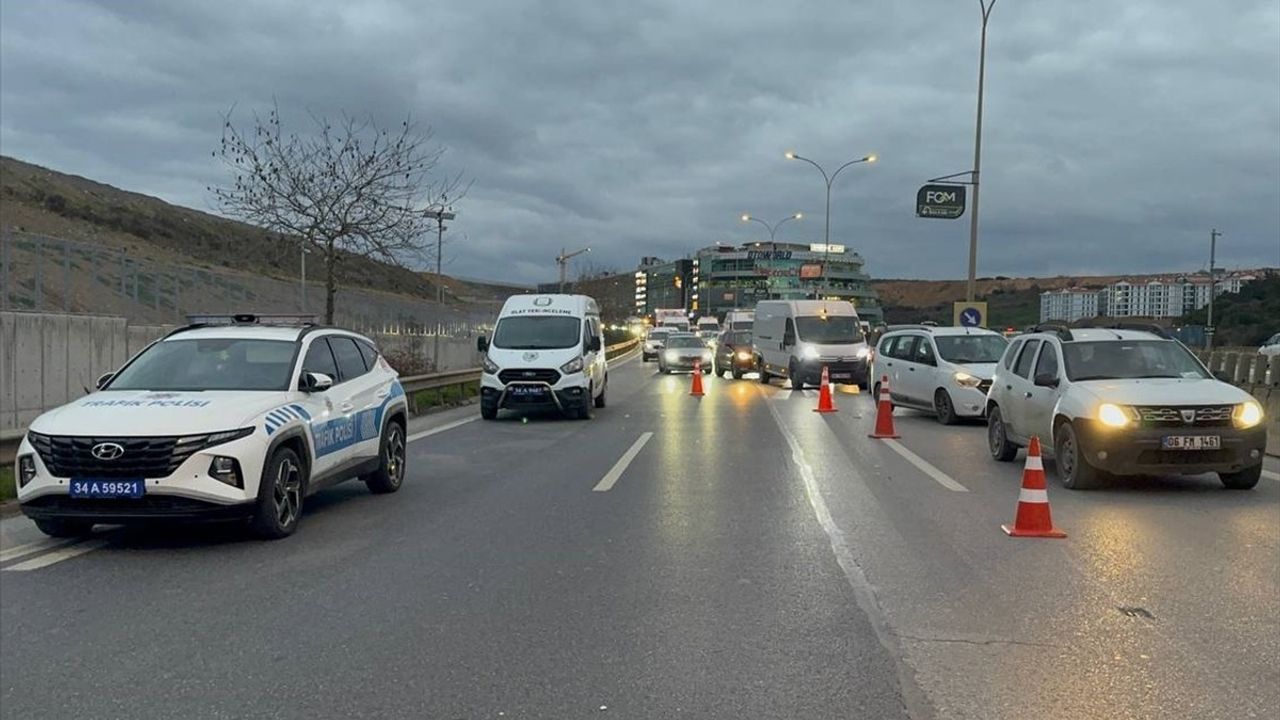
[[751, 346], [760, 382], [790, 378], [800, 389], [831, 382], [867, 387], [867, 337], [854, 306], [844, 300], [765, 300], [755, 306]]

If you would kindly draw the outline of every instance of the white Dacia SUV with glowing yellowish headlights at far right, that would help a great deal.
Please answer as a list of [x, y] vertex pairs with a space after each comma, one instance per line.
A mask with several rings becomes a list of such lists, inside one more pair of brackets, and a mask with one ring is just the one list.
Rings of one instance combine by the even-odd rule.
[[1032, 436], [1074, 489], [1108, 474], [1199, 473], [1248, 489], [1266, 447], [1258, 401], [1162, 329], [1133, 325], [1041, 325], [1009, 346], [987, 401], [991, 455], [1010, 461]]

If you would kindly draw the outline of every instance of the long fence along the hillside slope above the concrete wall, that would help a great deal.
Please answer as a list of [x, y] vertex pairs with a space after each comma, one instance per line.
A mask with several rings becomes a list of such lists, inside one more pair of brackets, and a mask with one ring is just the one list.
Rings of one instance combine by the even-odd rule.
[[[320, 268], [312, 268], [316, 274]], [[301, 268], [300, 279], [301, 279]], [[305, 300], [306, 299], [306, 300]], [[0, 231], [0, 310], [119, 315], [180, 323], [188, 313], [317, 313], [324, 284], [143, 260], [105, 243]], [[376, 288], [340, 287], [334, 324], [362, 333], [471, 338], [495, 311]]]

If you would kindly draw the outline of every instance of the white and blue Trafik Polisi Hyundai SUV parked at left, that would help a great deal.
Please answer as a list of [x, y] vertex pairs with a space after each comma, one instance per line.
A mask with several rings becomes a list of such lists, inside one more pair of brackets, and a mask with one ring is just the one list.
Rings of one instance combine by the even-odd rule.
[[399, 489], [407, 402], [369, 338], [298, 316], [192, 320], [31, 424], [18, 501], [41, 530], [248, 519], [280, 538], [323, 487]]

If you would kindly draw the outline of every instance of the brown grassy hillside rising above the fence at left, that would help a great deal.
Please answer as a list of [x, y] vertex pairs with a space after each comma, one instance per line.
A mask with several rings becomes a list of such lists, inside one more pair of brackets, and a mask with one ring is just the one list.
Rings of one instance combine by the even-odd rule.
[[[297, 277], [297, 245], [275, 233], [8, 156], [0, 156], [0, 223], [27, 233], [125, 250], [138, 261], [289, 281]], [[431, 274], [355, 256], [338, 268], [340, 286], [435, 300]], [[319, 278], [319, 264], [314, 272]], [[444, 278], [443, 284], [448, 304], [494, 295], [493, 288], [474, 290], [452, 278]]]

